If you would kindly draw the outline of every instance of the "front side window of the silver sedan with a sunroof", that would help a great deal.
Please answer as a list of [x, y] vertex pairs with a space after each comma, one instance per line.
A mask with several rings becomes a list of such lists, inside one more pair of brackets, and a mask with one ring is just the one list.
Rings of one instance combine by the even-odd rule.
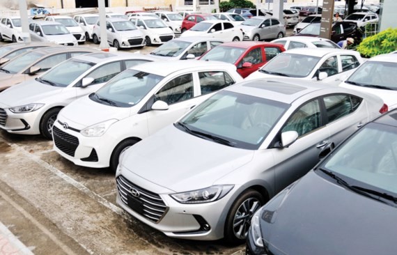
[[313, 100], [295, 111], [282, 131], [296, 131], [299, 137], [301, 137], [304, 134], [316, 130], [320, 126], [320, 104], [318, 100]]

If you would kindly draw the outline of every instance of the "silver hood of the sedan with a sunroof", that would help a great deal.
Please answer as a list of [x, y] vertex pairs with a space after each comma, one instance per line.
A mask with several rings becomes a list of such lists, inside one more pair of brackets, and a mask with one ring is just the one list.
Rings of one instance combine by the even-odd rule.
[[219, 179], [250, 162], [253, 155], [254, 150], [217, 144], [169, 125], [129, 148], [121, 164], [160, 187], [185, 192], [231, 184]]

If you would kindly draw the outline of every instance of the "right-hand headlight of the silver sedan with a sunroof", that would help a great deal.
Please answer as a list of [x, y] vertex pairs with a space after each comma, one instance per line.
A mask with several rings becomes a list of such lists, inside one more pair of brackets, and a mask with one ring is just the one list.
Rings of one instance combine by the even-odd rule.
[[201, 190], [192, 190], [171, 194], [170, 196], [179, 203], [209, 203], [226, 196], [234, 185], [214, 185]]

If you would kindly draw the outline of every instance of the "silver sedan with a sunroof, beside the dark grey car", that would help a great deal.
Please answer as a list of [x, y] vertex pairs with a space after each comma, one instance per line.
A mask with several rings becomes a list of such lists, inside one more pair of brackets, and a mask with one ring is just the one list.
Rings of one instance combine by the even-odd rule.
[[382, 105], [338, 86], [240, 82], [125, 150], [116, 201], [170, 237], [237, 245], [260, 206], [380, 115]]

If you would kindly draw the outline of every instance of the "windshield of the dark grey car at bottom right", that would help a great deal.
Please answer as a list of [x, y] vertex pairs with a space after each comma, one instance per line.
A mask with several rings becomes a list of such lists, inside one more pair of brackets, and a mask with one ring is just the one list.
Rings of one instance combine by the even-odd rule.
[[[390, 120], [395, 123], [396, 117]], [[350, 185], [378, 190], [380, 194], [396, 197], [396, 127], [379, 123], [361, 127], [343, 146], [334, 150], [320, 167], [343, 176]]]

